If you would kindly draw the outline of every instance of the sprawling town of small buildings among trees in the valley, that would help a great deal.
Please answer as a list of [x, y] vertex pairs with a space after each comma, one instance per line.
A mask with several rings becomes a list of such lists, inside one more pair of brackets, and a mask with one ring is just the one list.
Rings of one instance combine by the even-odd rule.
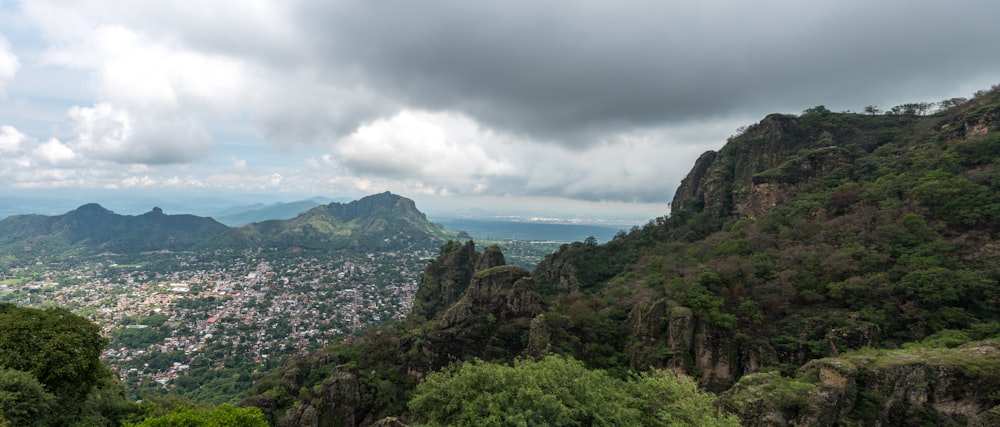
[[225, 402], [281, 359], [405, 318], [436, 253], [144, 254], [12, 268], [0, 302], [63, 307], [111, 340], [132, 398], [171, 390]]

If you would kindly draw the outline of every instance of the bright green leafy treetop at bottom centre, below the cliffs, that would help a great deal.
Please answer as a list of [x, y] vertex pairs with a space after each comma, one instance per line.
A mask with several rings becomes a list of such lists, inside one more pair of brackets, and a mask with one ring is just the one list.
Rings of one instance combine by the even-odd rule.
[[623, 381], [548, 356], [432, 373], [409, 406], [422, 425], [738, 425], [713, 403], [693, 381], [666, 371]]

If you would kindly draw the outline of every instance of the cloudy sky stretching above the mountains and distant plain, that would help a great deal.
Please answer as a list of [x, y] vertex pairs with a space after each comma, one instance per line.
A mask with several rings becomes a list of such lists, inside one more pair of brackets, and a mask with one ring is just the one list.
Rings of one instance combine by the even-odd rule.
[[995, 0], [0, 0], [0, 195], [392, 191], [642, 223], [767, 114], [1000, 83], [998, 20]]

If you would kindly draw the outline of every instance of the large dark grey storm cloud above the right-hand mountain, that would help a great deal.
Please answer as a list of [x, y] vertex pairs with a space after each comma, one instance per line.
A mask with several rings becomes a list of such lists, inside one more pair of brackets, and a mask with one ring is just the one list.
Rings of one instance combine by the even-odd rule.
[[331, 69], [360, 70], [411, 107], [565, 144], [694, 117], [948, 95], [1000, 72], [993, 1], [365, 1], [300, 13]]

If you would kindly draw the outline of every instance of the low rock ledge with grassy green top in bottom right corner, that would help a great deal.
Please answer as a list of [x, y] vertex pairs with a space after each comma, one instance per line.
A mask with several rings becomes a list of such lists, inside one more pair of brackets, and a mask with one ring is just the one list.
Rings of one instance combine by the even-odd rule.
[[1000, 342], [870, 353], [748, 375], [723, 402], [748, 426], [996, 425]]

